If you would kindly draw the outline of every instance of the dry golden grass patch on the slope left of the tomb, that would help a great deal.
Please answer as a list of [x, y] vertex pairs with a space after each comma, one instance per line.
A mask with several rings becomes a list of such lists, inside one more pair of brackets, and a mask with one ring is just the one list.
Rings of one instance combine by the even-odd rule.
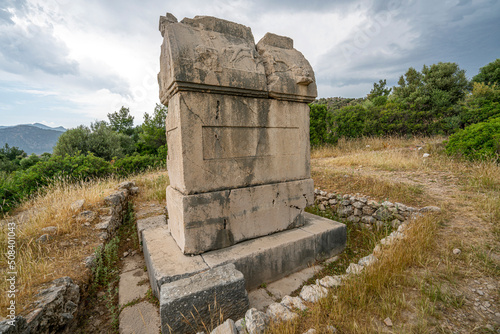
[[[71, 204], [84, 199], [82, 210], [95, 210], [118, 182], [113, 178], [78, 184], [61, 181], [45, 189], [44, 194], [33, 196], [11, 217], [4, 217], [2, 231], [6, 231], [7, 222], [16, 224], [18, 311], [27, 306], [41, 284], [62, 276], [78, 280], [86, 275], [82, 271], [82, 260], [92, 254], [98, 238], [90, 232], [91, 227], [83, 226], [76, 219], [78, 212], [71, 209]], [[48, 242], [38, 242], [44, 234], [41, 229], [48, 226], [57, 227], [57, 231], [49, 233]], [[0, 251], [4, 254], [6, 250], [7, 233], [1, 233]], [[6, 257], [0, 259], [2, 271], [7, 271], [6, 260]], [[7, 290], [5, 280], [0, 283], [0, 290]], [[7, 303], [7, 294], [1, 294], [0, 314], [4, 315]]]

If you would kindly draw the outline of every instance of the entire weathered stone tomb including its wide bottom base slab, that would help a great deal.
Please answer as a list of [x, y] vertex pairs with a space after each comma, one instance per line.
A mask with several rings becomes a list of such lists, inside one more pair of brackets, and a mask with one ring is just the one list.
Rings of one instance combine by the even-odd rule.
[[256, 45], [246, 26], [169, 13], [160, 31], [169, 219], [140, 237], [162, 314], [194, 303], [170, 299], [178, 280], [234, 264], [250, 289], [339, 253], [345, 226], [304, 211], [317, 89], [292, 39], [268, 33]]

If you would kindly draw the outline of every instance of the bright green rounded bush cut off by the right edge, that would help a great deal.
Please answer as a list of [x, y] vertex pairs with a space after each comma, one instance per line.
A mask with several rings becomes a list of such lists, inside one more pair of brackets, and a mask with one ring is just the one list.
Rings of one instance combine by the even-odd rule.
[[446, 153], [469, 160], [495, 159], [500, 162], [500, 118], [472, 124], [451, 135]]

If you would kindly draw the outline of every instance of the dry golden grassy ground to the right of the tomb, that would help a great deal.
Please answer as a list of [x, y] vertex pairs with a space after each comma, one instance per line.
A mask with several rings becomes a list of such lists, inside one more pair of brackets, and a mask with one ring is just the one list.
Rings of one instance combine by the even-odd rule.
[[[487, 332], [488, 320], [472, 309], [477, 295], [469, 282], [500, 280], [500, 166], [447, 157], [444, 139], [362, 138], [313, 149], [316, 187], [436, 205], [443, 213], [416, 221], [408, 237], [369, 270], [270, 333], [326, 333], [328, 325], [341, 333]], [[354, 253], [352, 262], [359, 257]], [[500, 295], [492, 297], [498, 301]], [[473, 320], [462, 323], [457, 314]], [[386, 317], [392, 328], [383, 323]]]

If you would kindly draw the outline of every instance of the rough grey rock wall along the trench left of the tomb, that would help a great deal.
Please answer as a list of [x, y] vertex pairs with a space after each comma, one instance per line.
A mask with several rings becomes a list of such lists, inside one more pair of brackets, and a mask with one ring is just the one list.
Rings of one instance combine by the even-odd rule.
[[[118, 190], [104, 199], [107, 214], [100, 217], [101, 223], [96, 228], [101, 230], [102, 249], [106, 241], [116, 234], [127, 213], [130, 195], [137, 193], [134, 182], [123, 182]], [[95, 264], [95, 254], [85, 259], [85, 266]], [[91, 279], [92, 280], [92, 279]], [[80, 309], [82, 289], [70, 277], [62, 277], [47, 284], [36, 296], [35, 302], [28, 308], [27, 315], [18, 315], [14, 320], [0, 322], [0, 334], [49, 334], [72, 333]], [[87, 285], [88, 286], [88, 285]]]

